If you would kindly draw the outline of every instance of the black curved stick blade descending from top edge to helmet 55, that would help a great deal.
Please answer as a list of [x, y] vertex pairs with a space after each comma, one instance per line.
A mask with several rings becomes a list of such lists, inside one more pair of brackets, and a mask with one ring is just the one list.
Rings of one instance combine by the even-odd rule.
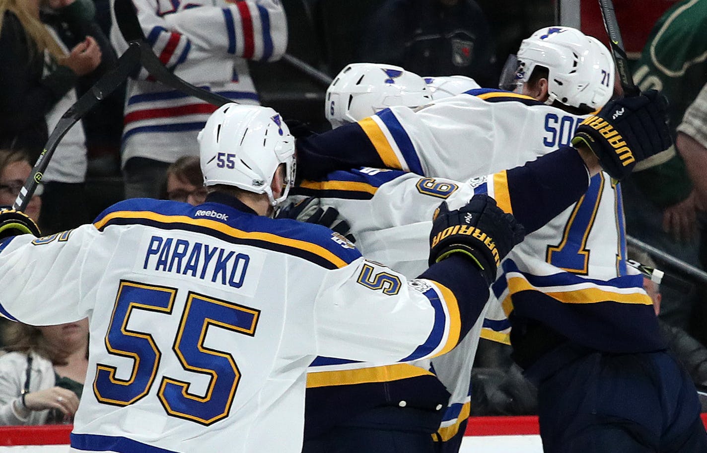
[[218, 105], [218, 107], [234, 102], [225, 96], [189, 84], [165, 68], [165, 65], [160, 62], [160, 59], [152, 51], [152, 47], [145, 40], [132, 0], [115, 0], [113, 8], [115, 21], [123, 38], [129, 44], [136, 45], [140, 49], [140, 63], [157, 81], [189, 96], [199, 98], [201, 101]]

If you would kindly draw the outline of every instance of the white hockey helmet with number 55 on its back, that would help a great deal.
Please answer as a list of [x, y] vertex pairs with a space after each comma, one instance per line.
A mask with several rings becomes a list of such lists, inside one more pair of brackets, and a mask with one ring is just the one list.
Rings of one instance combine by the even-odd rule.
[[[204, 185], [233, 185], [266, 193], [273, 206], [287, 197], [295, 180], [295, 139], [275, 110], [260, 105], [222, 105], [197, 138]], [[285, 164], [286, 186], [275, 199], [270, 184], [280, 164]]]

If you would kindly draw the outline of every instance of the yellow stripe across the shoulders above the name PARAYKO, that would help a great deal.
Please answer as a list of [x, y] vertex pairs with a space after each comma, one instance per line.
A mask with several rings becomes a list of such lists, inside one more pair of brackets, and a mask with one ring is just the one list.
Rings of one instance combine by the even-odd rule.
[[308, 251], [314, 253], [317, 256], [328, 260], [337, 268], [343, 268], [346, 266], [346, 261], [342, 260], [334, 253], [328, 251], [322, 246], [317, 246], [315, 243], [310, 243], [307, 241], [301, 241], [300, 239], [291, 239], [283, 236], [277, 236], [272, 233], [264, 233], [262, 231], [241, 231], [240, 229], [233, 228], [233, 226], [228, 226], [216, 220], [210, 219], [192, 219], [192, 217], [187, 217], [185, 215], [165, 215], [157, 214], [151, 211], [116, 211], [107, 214], [103, 219], [93, 224], [96, 229], [101, 229], [112, 219], [148, 219], [154, 222], [160, 222], [164, 224], [182, 223], [194, 226], [201, 226], [204, 228], [212, 229], [215, 231], [220, 231], [223, 234], [237, 238], [237, 239], [250, 239], [253, 241], [266, 241], [271, 243], [280, 244], [283, 246], [299, 248], [303, 251]]

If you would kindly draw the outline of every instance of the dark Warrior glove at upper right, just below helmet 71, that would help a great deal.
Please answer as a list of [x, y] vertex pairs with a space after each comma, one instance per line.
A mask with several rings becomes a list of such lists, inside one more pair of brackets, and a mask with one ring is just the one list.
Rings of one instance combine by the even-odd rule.
[[609, 101], [584, 120], [572, 144], [585, 144], [614, 179], [629, 176], [637, 162], [672, 144], [667, 127], [667, 100], [655, 90]]

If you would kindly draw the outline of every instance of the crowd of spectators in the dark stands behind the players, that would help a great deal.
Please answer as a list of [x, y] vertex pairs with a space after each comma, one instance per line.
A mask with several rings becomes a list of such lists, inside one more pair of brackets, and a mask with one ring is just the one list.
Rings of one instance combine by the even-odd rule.
[[[616, 3], [620, 8], [621, 1]], [[632, 236], [701, 269], [707, 263], [707, 237], [701, 235], [707, 209], [707, 48], [701, 39], [707, 32], [707, 0], [663, 3], [665, 13], [646, 33], [648, 40], [633, 69], [641, 89], [657, 88], [669, 99], [677, 146], [623, 184], [626, 226]], [[323, 109], [326, 86], [287, 62], [271, 61], [284, 54], [285, 42], [288, 54], [329, 76], [351, 62], [385, 62], [423, 76], [469, 76], [483, 87], [496, 88], [503, 62], [520, 40], [556, 22], [553, 2], [540, 0], [283, 4], [286, 19], [259, 7], [259, 30], [266, 23], [272, 29], [265, 44], [249, 51], [234, 38], [216, 42], [214, 55], [204, 53], [202, 64], [218, 59], [218, 52], [238, 54], [227, 76], [216, 81], [194, 76], [189, 81], [229, 93], [234, 101], [271, 105], [315, 131], [328, 126]], [[167, 13], [151, 20], [165, 21]], [[125, 43], [111, 30], [107, 0], [0, 0], [0, 18], [0, 205], [11, 205], [59, 117], [115, 65]], [[166, 31], [165, 36], [148, 36], [148, 41], [174, 69], [190, 44]], [[156, 94], [155, 84], [147, 74], [139, 74], [67, 134], [26, 210], [43, 232], [86, 223], [126, 196], [193, 205], [204, 201], [196, 134], [216, 107], [186, 96], [165, 101], [171, 95]], [[141, 103], [153, 104], [140, 110]], [[160, 117], [149, 122], [158, 114], [174, 116], [171, 121]], [[168, 138], [156, 139], [157, 134]], [[645, 289], [664, 321], [671, 349], [694, 382], [707, 388], [707, 284], [682, 275], [660, 255], [634, 251], [633, 257], [684, 280], [684, 285], [661, 287], [647, 280]], [[69, 420], [65, 415], [76, 410], [76, 389], [81, 389], [86, 373], [86, 326], [4, 325], [3, 333], [8, 354], [0, 357], [0, 424]], [[481, 342], [472, 378], [472, 413], [534, 413], [534, 390], [513, 365], [510, 351]], [[7, 406], [20, 394], [25, 406], [18, 417]]]

